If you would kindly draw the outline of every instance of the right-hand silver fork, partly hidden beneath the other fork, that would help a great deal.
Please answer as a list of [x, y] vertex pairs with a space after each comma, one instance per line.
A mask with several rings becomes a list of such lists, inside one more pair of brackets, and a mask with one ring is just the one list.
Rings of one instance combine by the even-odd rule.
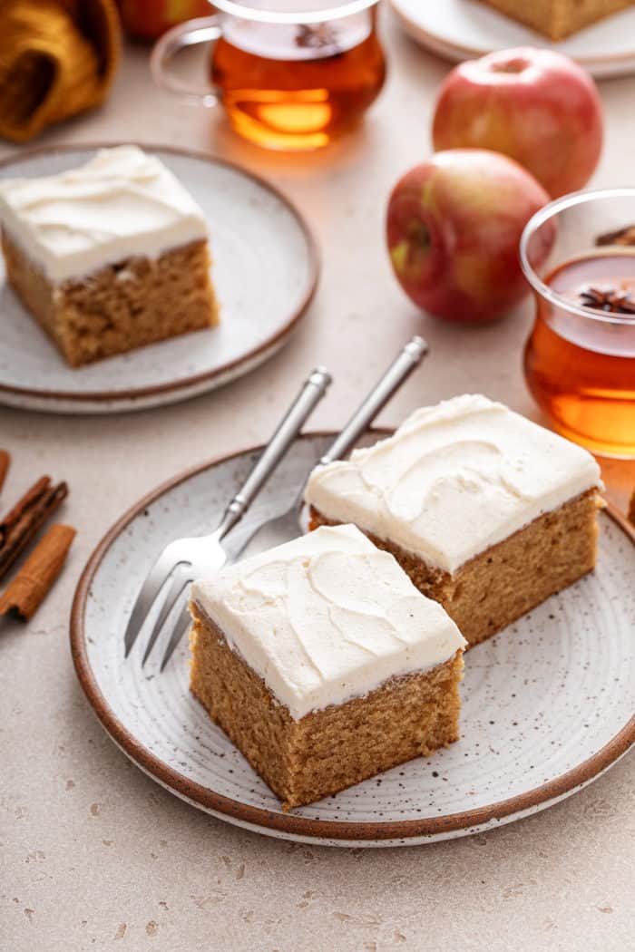
[[[340, 435], [329, 446], [327, 452], [318, 461], [317, 466], [326, 466], [333, 460], [339, 460], [347, 455], [349, 449], [355, 445], [362, 433], [375, 419], [379, 411], [386, 406], [388, 400], [401, 387], [407, 377], [412, 373], [415, 367], [418, 367], [427, 354], [427, 343], [423, 337], [413, 337], [406, 347], [404, 347], [393, 363], [388, 367], [384, 376], [370, 390], [367, 398], [353, 413], [352, 417], [344, 427]], [[313, 467], [311, 467], [312, 470]], [[309, 472], [311, 471], [309, 470]], [[308, 473], [307, 473], [308, 478]], [[239, 557], [254, 555], [262, 552], [266, 548], [272, 548], [274, 545], [282, 545], [289, 539], [294, 539], [304, 531], [300, 522], [300, 516], [303, 506], [304, 489], [306, 479], [303, 480], [300, 492], [294, 499], [291, 506], [281, 516], [274, 516], [255, 526], [248, 535], [244, 543], [231, 551], [230, 559], [232, 562]], [[183, 636], [189, 629], [191, 619], [189, 617], [188, 605], [185, 605], [174, 623], [166, 653], [163, 657], [161, 670], [168, 664], [169, 659], [174, 652], [176, 645], [179, 644]]]

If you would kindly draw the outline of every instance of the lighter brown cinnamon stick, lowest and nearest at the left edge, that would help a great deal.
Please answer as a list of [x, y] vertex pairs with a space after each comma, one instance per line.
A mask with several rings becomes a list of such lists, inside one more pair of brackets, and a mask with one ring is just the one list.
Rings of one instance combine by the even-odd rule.
[[15, 578], [0, 595], [0, 615], [15, 611], [26, 622], [42, 605], [66, 561], [75, 530], [57, 523], [35, 546]]

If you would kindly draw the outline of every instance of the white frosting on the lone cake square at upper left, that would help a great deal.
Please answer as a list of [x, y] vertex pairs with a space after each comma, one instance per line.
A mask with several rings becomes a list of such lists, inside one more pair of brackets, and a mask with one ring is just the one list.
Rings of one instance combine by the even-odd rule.
[[0, 222], [53, 283], [208, 235], [178, 179], [136, 146], [102, 149], [58, 175], [0, 180]]

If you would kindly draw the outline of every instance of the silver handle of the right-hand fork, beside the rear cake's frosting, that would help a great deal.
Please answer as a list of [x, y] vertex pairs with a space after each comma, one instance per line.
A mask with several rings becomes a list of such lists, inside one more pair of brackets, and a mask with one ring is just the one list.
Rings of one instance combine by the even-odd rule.
[[413, 337], [397, 355], [384, 376], [367, 395], [366, 400], [353, 413], [339, 436], [328, 447], [318, 466], [327, 466], [334, 460], [341, 460], [359, 440], [368, 426], [383, 409], [390, 397], [401, 387], [415, 367], [421, 364], [427, 354], [427, 343], [423, 337]]

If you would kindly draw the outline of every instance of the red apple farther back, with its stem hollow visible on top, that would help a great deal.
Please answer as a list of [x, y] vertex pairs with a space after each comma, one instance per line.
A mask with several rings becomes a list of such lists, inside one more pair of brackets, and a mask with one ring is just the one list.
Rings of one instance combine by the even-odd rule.
[[435, 149], [493, 149], [525, 166], [552, 198], [582, 188], [602, 151], [591, 77], [552, 50], [503, 50], [455, 67], [434, 112]]

